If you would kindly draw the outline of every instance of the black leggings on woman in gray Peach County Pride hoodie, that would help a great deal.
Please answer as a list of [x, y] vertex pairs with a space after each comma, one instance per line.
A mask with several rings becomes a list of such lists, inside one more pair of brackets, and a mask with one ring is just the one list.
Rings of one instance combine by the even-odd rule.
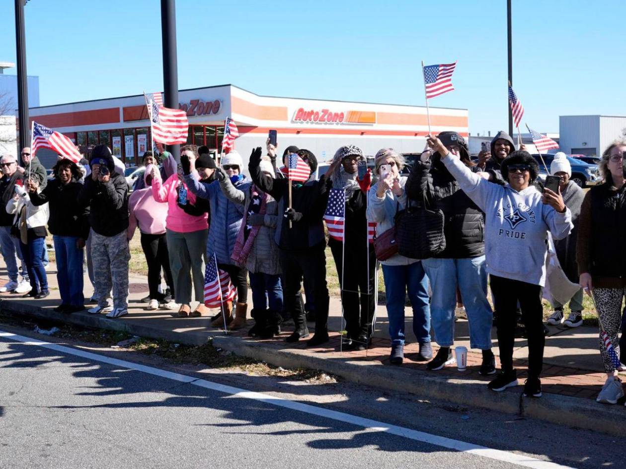
[[543, 306], [539, 285], [510, 278], [490, 275], [491, 291], [495, 303], [498, 326], [498, 347], [502, 371], [513, 370], [513, 345], [515, 345], [515, 311], [520, 302], [521, 317], [528, 336], [528, 375], [539, 377], [543, 368]]

